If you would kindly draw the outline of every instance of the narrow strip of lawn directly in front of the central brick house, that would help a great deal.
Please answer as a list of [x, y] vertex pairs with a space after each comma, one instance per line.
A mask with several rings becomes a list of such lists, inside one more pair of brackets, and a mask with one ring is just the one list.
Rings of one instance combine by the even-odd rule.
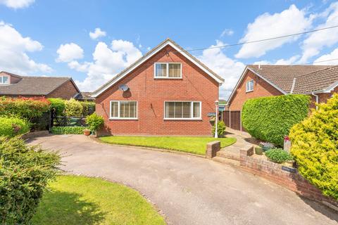
[[214, 139], [212, 137], [187, 137], [187, 136], [105, 136], [100, 138], [106, 143], [127, 146], [145, 146], [152, 148], [165, 148], [199, 155], [206, 154], [206, 143], [220, 141], [221, 148], [236, 142], [235, 138]]

